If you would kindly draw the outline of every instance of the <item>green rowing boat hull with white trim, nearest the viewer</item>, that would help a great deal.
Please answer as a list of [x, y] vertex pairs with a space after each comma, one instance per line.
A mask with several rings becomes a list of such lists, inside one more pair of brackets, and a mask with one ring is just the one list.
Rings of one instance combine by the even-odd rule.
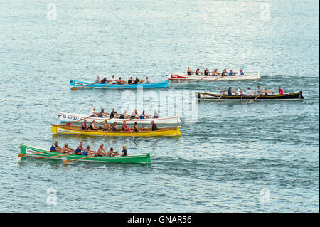
[[[27, 146], [25, 144], [20, 144], [20, 152], [21, 154], [31, 154], [30, 156], [33, 157], [48, 157], [48, 156], [54, 156], [54, 155], [59, 155], [60, 153], [58, 152], [46, 152], [46, 149], [43, 148], [38, 148], [38, 147], [31, 147]], [[46, 153], [41, 153], [41, 154], [34, 154], [37, 152], [46, 152]], [[70, 154], [70, 155], [65, 155], [62, 157], [50, 157], [50, 159], [80, 159], [82, 157], [85, 157], [83, 155], [78, 155], [78, 154]], [[114, 157], [102, 157], [102, 156], [97, 156], [97, 157], [90, 157], [87, 159], [80, 159], [79, 161], [82, 162], [116, 162], [116, 163], [151, 163], [151, 153], [147, 154], [127, 154], [127, 156], [114, 156]]]

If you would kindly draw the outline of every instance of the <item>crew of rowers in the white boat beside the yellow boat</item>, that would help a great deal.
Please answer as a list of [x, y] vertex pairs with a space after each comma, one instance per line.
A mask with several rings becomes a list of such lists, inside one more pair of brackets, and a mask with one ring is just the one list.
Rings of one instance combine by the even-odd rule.
[[[124, 112], [122, 114], [117, 113], [114, 108], [112, 108], [112, 111], [110, 113], [105, 112], [104, 109], [101, 109], [100, 112], [96, 112], [95, 111], [95, 107], [90, 111], [89, 115], [92, 117], [107, 117], [108, 115], [110, 115], [109, 118], [119, 118], [119, 119], [124, 119], [124, 118], [130, 118], [130, 119], [148, 119], [149, 117], [151, 117], [151, 115], [146, 114], [146, 112], [144, 112], [144, 110], [142, 111], [142, 113], [139, 115], [137, 110], [134, 110], [134, 112], [132, 112], [131, 115], [127, 114], [127, 110], [124, 110]], [[156, 112], [156, 110], [154, 110], [154, 115], [153, 118], [158, 118], [159, 115]]]

